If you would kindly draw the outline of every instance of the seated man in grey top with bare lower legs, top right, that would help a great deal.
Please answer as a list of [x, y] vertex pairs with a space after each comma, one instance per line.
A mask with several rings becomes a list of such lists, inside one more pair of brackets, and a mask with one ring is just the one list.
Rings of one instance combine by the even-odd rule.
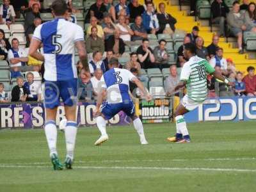
[[234, 1], [232, 11], [227, 16], [227, 23], [231, 33], [237, 37], [239, 54], [243, 54], [243, 31], [256, 31], [256, 28], [244, 24], [244, 15], [239, 13], [238, 1]]

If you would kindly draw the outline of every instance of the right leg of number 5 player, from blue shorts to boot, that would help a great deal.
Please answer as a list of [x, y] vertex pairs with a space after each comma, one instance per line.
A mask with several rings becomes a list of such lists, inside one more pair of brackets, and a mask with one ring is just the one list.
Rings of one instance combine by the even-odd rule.
[[74, 149], [76, 145], [77, 134], [77, 79], [60, 81], [60, 84], [60, 96], [65, 105], [65, 116], [67, 118], [67, 124], [65, 127], [65, 140], [67, 149], [65, 166], [66, 168], [71, 169], [72, 163], [74, 161]]

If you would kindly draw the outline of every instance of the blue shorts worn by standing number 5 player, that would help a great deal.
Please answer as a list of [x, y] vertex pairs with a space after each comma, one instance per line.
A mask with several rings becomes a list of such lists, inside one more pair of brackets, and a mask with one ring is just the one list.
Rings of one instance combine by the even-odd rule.
[[45, 81], [45, 108], [56, 108], [60, 98], [65, 106], [74, 106], [77, 102], [77, 79], [67, 81]]

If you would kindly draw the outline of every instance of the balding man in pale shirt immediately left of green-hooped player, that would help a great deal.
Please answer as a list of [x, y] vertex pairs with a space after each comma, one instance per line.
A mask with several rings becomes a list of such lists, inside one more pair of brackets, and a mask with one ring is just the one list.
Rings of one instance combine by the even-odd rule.
[[167, 77], [165, 84], [164, 84], [164, 90], [166, 92], [166, 95], [168, 97], [171, 97], [173, 95], [179, 96], [179, 90], [175, 91], [174, 88], [179, 83], [180, 79], [177, 73], [177, 67], [176, 65], [170, 66], [170, 75]]

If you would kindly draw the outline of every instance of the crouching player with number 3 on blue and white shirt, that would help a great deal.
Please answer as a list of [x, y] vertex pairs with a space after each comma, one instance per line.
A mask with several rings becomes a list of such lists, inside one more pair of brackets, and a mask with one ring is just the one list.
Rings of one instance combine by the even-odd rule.
[[[142, 122], [140, 118], [135, 115], [134, 103], [129, 95], [129, 81], [135, 83], [141, 92], [145, 93], [147, 99], [150, 99], [150, 95], [147, 93], [140, 80], [129, 70], [118, 68], [118, 60], [116, 58], [111, 58], [109, 68], [110, 69], [104, 73], [100, 79], [100, 93], [98, 94], [95, 116], [97, 116], [97, 127], [99, 128], [101, 136], [99, 140], [95, 142], [95, 145], [100, 145], [108, 140], [106, 120], [113, 118], [113, 116], [120, 111], [124, 111], [127, 116], [131, 117], [134, 128], [140, 136], [141, 144], [148, 144], [144, 135]], [[107, 100], [102, 104], [104, 95], [107, 96]], [[101, 104], [102, 107], [100, 109]]]

